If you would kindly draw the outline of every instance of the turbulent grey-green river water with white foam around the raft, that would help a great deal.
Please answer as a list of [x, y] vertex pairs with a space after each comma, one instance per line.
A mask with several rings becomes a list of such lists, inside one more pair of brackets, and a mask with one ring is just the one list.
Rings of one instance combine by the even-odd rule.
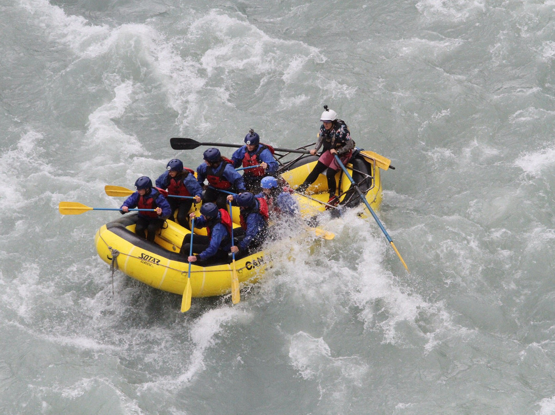
[[[555, 413], [553, 0], [0, 0], [0, 412]], [[112, 273], [93, 237], [172, 136], [294, 148], [322, 105], [390, 159], [242, 292]], [[228, 156], [230, 153], [228, 154]]]

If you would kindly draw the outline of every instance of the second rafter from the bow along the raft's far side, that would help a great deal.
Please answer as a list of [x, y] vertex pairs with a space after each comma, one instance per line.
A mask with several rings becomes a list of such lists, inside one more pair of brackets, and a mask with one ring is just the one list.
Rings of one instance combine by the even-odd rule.
[[[203, 188], [196, 181], [194, 171], [183, 168], [183, 161], [179, 159], [168, 161], [166, 171], [156, 180], [156, 186], [160, 189], [167, 189], [168, 195], [192, 196], [195, 203], [200, 203], [203, 195]], [[179, 209], [176, 215], [178, 224], [189, 229], [187, 217], [193, 205], [193, 199], [168, 198], [168, 202], [172, 212]]]

